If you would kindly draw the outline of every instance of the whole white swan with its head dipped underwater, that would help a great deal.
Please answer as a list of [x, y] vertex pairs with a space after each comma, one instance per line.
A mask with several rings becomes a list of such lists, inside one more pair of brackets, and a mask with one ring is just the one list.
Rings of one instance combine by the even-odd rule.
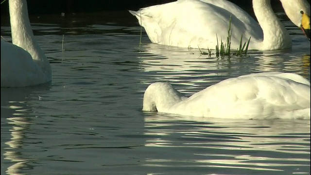
[[310, 119], [310, 82], [294, 73], [254, 73], [226, 79], [189, 98], [158, 82], [146, 89], [142, 110], [211, 118]]

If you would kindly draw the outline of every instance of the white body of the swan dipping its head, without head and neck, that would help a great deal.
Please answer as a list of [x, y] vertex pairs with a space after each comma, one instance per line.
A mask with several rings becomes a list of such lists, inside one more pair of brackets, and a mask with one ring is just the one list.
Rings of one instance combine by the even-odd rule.
[[310, 118], [310, 86], [288, 78], [230, 78], [175, 105], [183, 115], [217, 118]]

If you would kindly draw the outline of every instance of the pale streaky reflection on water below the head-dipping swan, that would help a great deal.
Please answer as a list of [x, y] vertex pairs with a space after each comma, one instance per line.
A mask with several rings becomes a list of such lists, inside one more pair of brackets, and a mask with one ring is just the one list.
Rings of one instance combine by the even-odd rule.
[[[309, 130], [310, 121], [228, 121], [146, 113], [145, 135], [150, 138], [146, 146], [194, 153], [187, 155], [187, 160], [149, 158], [145, 166], [224, 168], [237, 174], [247, 169], [308, 174]], [[272, 173], [268, 172], [262, 173]]]

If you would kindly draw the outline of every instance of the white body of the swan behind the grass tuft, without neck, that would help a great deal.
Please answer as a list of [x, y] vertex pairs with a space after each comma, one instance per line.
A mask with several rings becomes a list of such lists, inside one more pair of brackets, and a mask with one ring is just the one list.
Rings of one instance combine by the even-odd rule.
[[[178, 0], [130, 11], [138, 18], [152, 42], [180, 47], [214, 48], [226, 40], [232, 17], [232, 44], [252, 36], [262, 39], [259, 24], [237, 5], [226, 0]], [[141, 19], [140, 19], [141, 18]]]

